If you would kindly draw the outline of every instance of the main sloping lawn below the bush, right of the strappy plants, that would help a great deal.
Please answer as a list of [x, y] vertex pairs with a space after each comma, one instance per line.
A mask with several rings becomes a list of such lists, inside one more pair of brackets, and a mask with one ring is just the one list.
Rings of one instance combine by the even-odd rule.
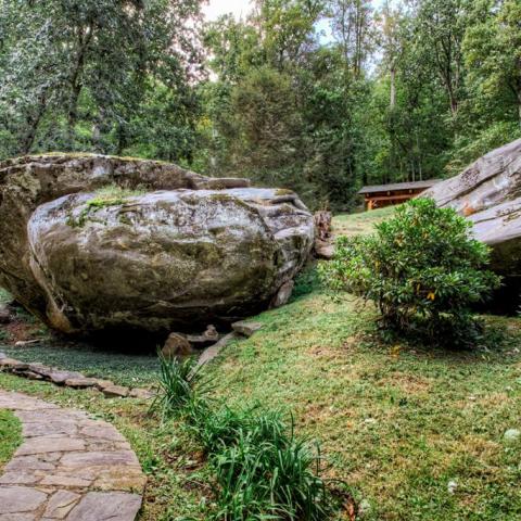
[[370, 309], [320, 293], [258, 319], [212, 368], [218, 395], [293, 410], [331, 475], [373, 505], [369, 519], [519, 519], [521, 447], [503, 444], [520, 427], [519, 319], [487, 319], [508, 340], [467, 353], [382, 345], [360, 333]]

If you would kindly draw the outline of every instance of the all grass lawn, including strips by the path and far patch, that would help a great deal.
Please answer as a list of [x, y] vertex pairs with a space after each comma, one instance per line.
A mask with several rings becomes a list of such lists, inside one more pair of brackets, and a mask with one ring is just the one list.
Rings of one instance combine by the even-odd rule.
[[[364, 232], [390, 212], [335, 218], [336, 233]], [[521, 429], [521, 319], [483, 317], [487, 334], [471, 352], [386, 345], [371, 307], [353, 298], [333, 302], [313, 271], [301, 278], [292, 303], [256, 319], [264, 329], [207, 368], [214, 395], [238, 407], [257, 403], [292, 412], [301, 435], [322, 442], [328, 475], [364, 500], [363, 519], [521, 519], [521, 444], [504, 441], [506, 430]], [[35, 361], [49, 361], [42, 346], [12, 350], [18, 358], [33, 353]], [[56, 365], [116, 379], [123, 364], [122, 381], [127, 372], [155, 378], [155, 364], [139, 357], [77, 350], [60, 355], [53, 348]], [[137, 401], [1, 373], [0, 386], [115, 423], [150, 475], [142, 520], [205, 519], [208, 472], [179, 425], [161, 427]]]

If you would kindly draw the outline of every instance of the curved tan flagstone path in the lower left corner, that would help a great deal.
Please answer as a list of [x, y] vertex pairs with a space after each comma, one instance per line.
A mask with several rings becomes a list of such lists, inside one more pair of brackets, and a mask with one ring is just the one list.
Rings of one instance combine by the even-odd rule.
[[0, 521], [136, 519], [147, 479], [113, 425], [2, 390], [0, 409], [14, 411], [24, 436], [0, 476]]

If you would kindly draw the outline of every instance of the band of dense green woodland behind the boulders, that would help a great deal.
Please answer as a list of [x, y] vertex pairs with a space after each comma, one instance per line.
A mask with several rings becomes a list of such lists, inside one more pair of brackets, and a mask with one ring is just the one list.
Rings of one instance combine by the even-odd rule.
[[521, 136], [518, 0], [0, 0], [0, 157], [179, 162], [348, 209]]

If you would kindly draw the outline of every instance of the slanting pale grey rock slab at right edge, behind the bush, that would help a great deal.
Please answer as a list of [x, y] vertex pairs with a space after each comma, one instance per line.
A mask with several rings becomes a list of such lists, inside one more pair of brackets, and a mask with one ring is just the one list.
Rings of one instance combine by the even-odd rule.
[[497, 272], [521, 275], [521, 139], [490, 152], [422, 196], [473, 223], [474, 237], [493, 247]]

